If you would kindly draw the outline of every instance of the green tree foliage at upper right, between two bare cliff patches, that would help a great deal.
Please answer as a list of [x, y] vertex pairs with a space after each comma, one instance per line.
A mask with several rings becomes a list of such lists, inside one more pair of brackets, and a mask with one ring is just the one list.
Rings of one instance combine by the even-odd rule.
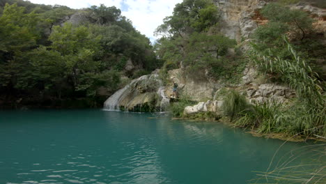
[[279, 56], [289, 56], [286, 45], [282, 40], [284, 34], [288, 34], [291, 40], [300, 40], [302, 43], [307, 33], [312, 29], [313, 20], [302, 10], [291, 10], [279, 3], [269, 3], [261, 10], [261, 14], [267, 18], [267, 24], [259, 26], [254, 33], [256, 42], [261, 51], [272, 52]]

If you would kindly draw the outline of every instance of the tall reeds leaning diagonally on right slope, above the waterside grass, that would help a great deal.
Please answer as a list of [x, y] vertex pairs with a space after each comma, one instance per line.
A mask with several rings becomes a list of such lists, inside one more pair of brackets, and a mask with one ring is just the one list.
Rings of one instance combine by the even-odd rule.
[[259, 52], [257, 45], [252, 47], [254, 50], [251, 53], [252, 59], [264, 72], [281, 75], [281, 80], [289, 84], [302, 100], [308, 100], [308, 103], [312, 105], [325, 104], [325, 98], [322, 95], [323, 87], [320, 86], [318, 75], [311, 70], [304, 59], [297, 56], [297, 52], [285, 37], [284, 41], [292, 59], [281, 59], [279, 56], [263, 54]]

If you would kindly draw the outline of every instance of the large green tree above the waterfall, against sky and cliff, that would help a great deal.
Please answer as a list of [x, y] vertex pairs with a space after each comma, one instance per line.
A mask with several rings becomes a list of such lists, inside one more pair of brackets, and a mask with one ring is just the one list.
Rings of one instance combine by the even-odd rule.
[[235, 40], [216, 32], [218, 21], [218, 8], [212, 1], [178, 3], [173, 15], [166, 17], [155, 32], [162, 35], [155, 51], [165, 61], [163, 70], [181, 66], [190, 77], [216, 79], [216, 68], [224, 68], [222, 60], [227, 63], [225, 56], [236, 45]]

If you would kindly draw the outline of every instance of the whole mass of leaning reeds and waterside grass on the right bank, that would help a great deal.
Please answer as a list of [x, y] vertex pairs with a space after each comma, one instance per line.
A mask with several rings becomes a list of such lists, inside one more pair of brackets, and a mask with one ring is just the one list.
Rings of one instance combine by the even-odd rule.
[[[292, 58], [284, 59], [272, 54], [266, 55], [253, 45], [251, 58], [263, 72], [281, 76], [281, 81], [295, 90], [297, 100], [292, 105], [261, 104], [254, 106], [254, 111], [244, 114], [238, 125], [258, 127], [261, 132], [285, 132], [289, 135], [300, 133], [305, 136], [326, 137], [326, 100], [325, 91], [318, 80], [318, 75], [308, 63], [297, 56], [293, 47], [288, 45]], [[254, 125], [252, 125], [254, 124]]]

